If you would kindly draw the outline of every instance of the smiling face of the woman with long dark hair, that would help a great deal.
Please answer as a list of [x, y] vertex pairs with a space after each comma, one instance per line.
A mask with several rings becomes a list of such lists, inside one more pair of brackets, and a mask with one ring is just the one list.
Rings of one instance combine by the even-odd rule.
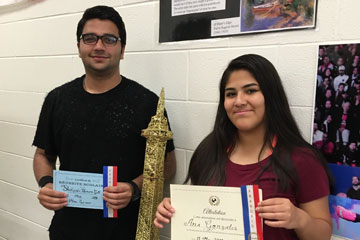
[[239, 131], [265, 126], [265, 99], [255, 78], [246, 70], [231, 73], [225, 86], [224, 107]]

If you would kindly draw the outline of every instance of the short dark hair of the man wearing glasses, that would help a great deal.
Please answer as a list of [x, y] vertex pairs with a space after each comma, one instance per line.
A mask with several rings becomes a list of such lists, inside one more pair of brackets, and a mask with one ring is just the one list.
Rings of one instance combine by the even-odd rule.
[[119, 30], [119, 37], [121, 38], [121, 46], [124, 47], [126, 44], [126, 30], [125, 24], [120, 16], [120, 14], [112, 7], [108, 6], [95, 6], [92, 8], [86, 9], [82, 18], [80, 19], [77, 30], [76, 38], [80, 42], [80, 36], [84, 29], [85, 23], [91, 19], [100, 19], [100, 20], [110, 20], [112, 21]]

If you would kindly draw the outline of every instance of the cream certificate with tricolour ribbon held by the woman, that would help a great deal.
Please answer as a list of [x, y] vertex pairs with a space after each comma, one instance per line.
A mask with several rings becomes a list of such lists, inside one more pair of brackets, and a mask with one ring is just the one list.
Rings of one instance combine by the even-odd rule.
[[170, 185], [172, 240], [262, 240], [255, 212], [261, 199], [256, 185], [211, 187]]

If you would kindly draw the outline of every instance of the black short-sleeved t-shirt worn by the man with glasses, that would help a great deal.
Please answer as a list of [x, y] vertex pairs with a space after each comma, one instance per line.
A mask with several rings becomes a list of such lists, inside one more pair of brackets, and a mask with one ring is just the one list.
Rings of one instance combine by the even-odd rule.
[[[84, 77], [47, 95], [33, 145], [58, 156], [61, 170], [102, 173], [103, 166], [118, 166], [118, 181], [132, 180], [143, 172], [141, 130], [156, 114], [158, 97], [125, 77], [105, 93], [90, 94]], [[169, 140], [166, 151], [172, 150]], [[117, 219], [104, 219], [102, 210], [63, 208], [55, 212], [50, 232], [63, 239], [134, 239], [138, 208], [139, 201], [130, 203]]]

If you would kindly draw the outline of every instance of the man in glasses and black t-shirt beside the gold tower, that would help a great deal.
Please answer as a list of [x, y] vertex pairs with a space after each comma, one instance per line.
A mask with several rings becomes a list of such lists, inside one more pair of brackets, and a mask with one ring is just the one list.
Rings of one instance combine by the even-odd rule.
[[[85, 75], [51, 91], [43, 104], [33, 145], [38, 199], [55, 210], [50, 239], [135, 239], [142, 186], [145, 129], [156, 113], [158, 97], [120, 75], [126, 31], [111, 7], [85, 11], [77, 27], [77, 46]], [[174, 144], [166, 147], [165, 179], [175, 173]], [[104, 200], [118, 218], [102, 210], [66, 207], [66, 194], [53, 190], [52, 171], [102, 173], [118, 167], [118, 184], [104, 190]]]

